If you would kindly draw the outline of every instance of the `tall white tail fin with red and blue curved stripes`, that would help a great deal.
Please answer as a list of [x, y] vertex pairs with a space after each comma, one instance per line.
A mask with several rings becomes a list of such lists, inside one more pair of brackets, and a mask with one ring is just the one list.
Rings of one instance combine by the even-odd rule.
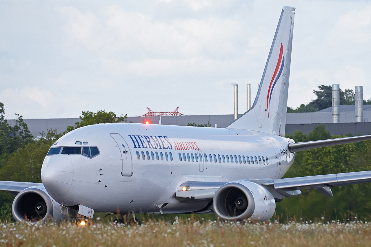
[[295, 8], [283, 7], [255, 101], [227, 128], [285, 136]]

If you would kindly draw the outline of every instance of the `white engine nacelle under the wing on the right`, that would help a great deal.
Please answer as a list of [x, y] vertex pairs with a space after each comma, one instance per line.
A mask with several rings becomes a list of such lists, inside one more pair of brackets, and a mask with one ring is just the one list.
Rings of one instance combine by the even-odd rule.
[[267, 221], [276, 210], [273, 195], [262, 185], [250, 181], [224, 184], [216, 192], [213, 210], [222, 220]]

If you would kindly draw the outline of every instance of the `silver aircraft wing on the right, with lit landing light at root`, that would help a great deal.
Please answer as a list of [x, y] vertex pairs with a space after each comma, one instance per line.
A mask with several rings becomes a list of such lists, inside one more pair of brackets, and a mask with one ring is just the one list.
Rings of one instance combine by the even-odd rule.
[[[265, 187], [270, 187], [285, 197], [299, 195], [301, 194], [300, 190], [303, 189], [315, 189], [324, 195], [332, 197], [331, 187], [371, 182], [371, 171], [280, 179], [248, 179], [246, 181], [252, 181]], [[177, 191], [175, 196], [195, 200], [213, 199], [216, 191], [226, 183], [227, 182], [185, 182], [180, 185], [180, 191]]]

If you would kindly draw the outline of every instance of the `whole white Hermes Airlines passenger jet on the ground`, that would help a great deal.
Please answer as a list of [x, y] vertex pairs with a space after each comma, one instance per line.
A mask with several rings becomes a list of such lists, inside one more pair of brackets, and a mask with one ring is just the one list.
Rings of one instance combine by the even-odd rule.
[[[252, 108], [227, 128], [107, 123], [75, 129], [46, 155], [42, 184], [0, 181], [17, 221], [94, 212], [214, 213], [269, 220], [276, 202], [371, 181], [371, 171], [283, 178], [295, 152], [371, 135], [294, 143], [285, 138], [295, 8], [283, 7]], [[135, 215], [134, 215], [135, 220]]]

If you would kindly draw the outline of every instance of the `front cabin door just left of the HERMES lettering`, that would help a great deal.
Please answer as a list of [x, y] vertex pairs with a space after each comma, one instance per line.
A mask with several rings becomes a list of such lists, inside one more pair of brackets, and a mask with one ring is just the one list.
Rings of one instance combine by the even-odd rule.
[[131, 175], [133, 175], [133, 162], [129, 145], [120, 134], [111, 133], [109, 135], [111, 135], [111, 137], [116, 142], [116, 147], [119, 149], [121, 155], [121, 175], [124, 177], [130, 177]]

